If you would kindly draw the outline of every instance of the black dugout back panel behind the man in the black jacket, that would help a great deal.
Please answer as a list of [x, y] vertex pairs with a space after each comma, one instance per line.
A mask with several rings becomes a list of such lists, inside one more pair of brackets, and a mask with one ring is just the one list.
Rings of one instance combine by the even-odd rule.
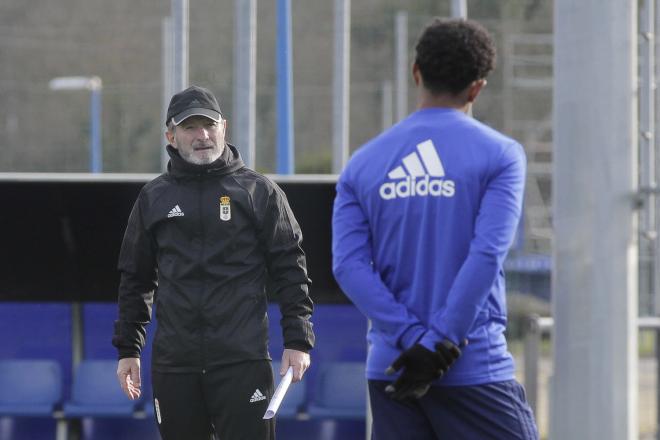
[[[2, 301], [116, 301], [117, 257], [143, 181], [0, 181]], [[303, 231], [318, 303], [347, 302], [331, 269], [333, 182], [278, 182]]]

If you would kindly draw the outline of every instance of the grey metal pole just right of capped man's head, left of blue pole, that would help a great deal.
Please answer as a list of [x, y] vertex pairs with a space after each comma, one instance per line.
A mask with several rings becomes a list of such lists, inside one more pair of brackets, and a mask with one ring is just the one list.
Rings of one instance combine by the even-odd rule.
[[236, 0], [234, 26], [234, 127], [243, 161], [255, 167], [257, 102], [257, 0]]

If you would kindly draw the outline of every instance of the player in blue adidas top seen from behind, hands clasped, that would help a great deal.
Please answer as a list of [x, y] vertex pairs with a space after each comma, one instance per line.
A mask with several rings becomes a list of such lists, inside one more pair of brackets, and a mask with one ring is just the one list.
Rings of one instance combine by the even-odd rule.
[[495, 48], [436, 19], [415, 49], [418, 108], [355, 152], [333, 213], [335, 277], [372, 323], [373, 438], [537, 439], [504, 337], [525, 154], [467, 115]]

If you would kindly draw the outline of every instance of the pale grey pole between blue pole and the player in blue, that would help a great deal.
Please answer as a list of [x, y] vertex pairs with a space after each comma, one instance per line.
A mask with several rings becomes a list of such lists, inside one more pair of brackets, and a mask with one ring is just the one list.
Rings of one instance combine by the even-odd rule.
[[348, 161], [350, 121], [351, 1], [335, 0], [335, 54], [332, 102], [332, 172]]

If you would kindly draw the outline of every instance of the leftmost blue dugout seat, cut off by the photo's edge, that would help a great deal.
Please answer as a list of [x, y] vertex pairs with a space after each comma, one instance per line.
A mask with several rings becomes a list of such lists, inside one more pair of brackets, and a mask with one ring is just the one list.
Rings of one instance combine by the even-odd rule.
[[62, 371], [51, 360], [0, 361], [0, 415], [52, 416], [62, 399]]

